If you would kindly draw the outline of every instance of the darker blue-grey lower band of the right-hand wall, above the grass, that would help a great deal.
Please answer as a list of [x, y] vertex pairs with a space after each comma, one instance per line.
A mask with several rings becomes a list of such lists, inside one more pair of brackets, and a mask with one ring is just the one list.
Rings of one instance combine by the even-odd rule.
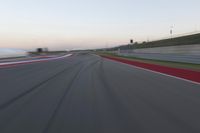
[[119, 53], [119, 55], [132, 56], [132, 57], [151, 59], [151, 60], [200, 64], [200, 55], [159, 54], [159, 53]]

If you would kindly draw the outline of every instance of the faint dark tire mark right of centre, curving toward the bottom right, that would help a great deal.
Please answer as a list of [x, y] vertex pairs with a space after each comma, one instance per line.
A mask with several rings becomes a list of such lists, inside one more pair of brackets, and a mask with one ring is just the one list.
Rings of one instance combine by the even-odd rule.
[[[115, 116], [117, 116], [118, 121], [122, 121], [118, 132], [128, 132], [129, 129], [133, 129], [137, 131], [138, 133], [143, 133], [144, 132], [144, 127], [141, 126], [139, 121], [136, 121], [135, 117], [132, 115], [132, 112], [129, 111], [127, 106], [124, 104], [124, 101], [120, 99], [120, 97], [112, 91], [115, 88], [112, 88], [110, 85], [109, 80], [107, 79], [106, 73], [105, 73], [105, 67], [103, 66], [104, 64], [104, 59], [101, 60], [100, 65], [99, 65], [99, 71], [98, 71], [98, 76], [100, 79], [100, 82], [102, 82], [102, 85], [104, 86], [104, 91], [105, 94], [107, 95], [108, 101], [110, 102], [110, 105], [112, 105], [113, 112], [115, 112]], [[122, 114], [121, 112], [126, 112]], [[128, 115], [129, 114], [129, 115]], [[134, 120], [131, 122], [127, 122], [126, 120]], [[131, 123], [131, 124], [130, 124]], [[116, 123], [117, 124], [117, 123]], [[134, 126], [133, 126], [134, 125]]]

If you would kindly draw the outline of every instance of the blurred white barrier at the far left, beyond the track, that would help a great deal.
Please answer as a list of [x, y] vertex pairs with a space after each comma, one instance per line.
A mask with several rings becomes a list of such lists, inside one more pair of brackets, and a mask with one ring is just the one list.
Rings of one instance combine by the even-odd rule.
[[19, 49], [0, 48], [0, 58], [23, 57], [28, 56], [28, 52]]

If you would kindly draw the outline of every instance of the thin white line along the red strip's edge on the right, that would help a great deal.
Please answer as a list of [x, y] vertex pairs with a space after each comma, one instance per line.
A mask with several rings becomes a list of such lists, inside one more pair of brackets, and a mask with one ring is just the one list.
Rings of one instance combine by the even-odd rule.
[[[109, 60], [111, 60], [111, 59], [109, 59]], [[114, 61], [114, 60], [111, 60], [111, 61]], [[181, 78], [181, 77], [172, 76], [172, 75], [169, 75], [169, 74], [165, 74], [165, 73], [153, 71], [153, 70], [150, 70], [150, 69], [146, 69], [146, 68], [142, 68], [142, 67], [138, 67], [138, 66], [126, 64], [126, 63], [119, 62], [119, 61], [115, 61], [115, 62], [122, 63], [122, 64], [124, 64], [124, 65], [131, 66], [131, 67], [135, 67], [135, 68], [137, 68], [137, 69], [145, 70], [145, 71], [148, 71], [148, 72], [156, 73], [156, 74], [159, 74], [159, 75], [163, 75], [163, 76], [167, 76], [167, 77], [171, 77], [171, 78], [175, 78], [175, 79], [179, 79], [179, 80], [183, 80], [183, 81], [186, 81], [186, 82], [190, 82], [190, 83], [193, 83], [193, 84], [200, 85], [199, 82], [195, 82], [195, 81], [192, 81], [192, 80], [184, 79], [184, 78]]]

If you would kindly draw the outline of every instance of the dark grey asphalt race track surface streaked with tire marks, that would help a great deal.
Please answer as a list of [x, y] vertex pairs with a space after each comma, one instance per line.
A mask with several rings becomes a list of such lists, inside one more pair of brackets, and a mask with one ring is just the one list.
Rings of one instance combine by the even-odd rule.
[[90, 54], [0, 69], [0, 133], [199, 133], [200, 85]]

